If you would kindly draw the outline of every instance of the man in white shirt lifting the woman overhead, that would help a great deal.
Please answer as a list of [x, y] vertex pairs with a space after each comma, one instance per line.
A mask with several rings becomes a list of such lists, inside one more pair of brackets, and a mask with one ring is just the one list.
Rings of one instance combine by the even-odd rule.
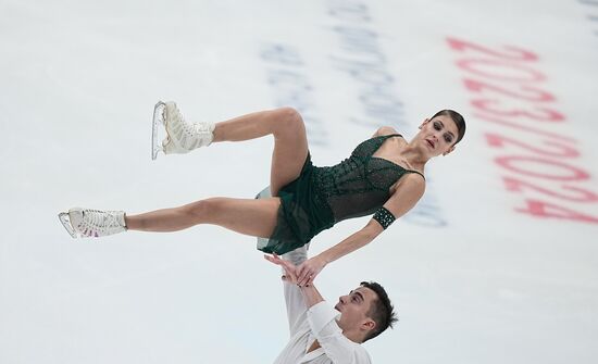
[[295, 267], [307, 260], [303, 246], [283, 255], [265, 255], [284, 269], [285, 301], [290, 340], [274, 364], [362, 364], [372, 360], [361, 343], [378, 336], [397, 321], [384, 288], [362, 283], [334, 306], [313, 284], [297, 285]]

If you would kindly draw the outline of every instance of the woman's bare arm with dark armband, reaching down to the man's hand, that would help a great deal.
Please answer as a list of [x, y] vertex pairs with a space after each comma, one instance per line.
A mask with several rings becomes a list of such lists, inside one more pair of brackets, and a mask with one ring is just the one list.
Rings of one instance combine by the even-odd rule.
[[[419, 175], [404, 176], [401, 184], [397, 186], [393, 196], [386, 201], [384, 208], [396, 218], [409, 212], [421, 199], [425, 190], [425, 183]], [[298, 283], [300, 286], [311, 284], [315, 276], [328, 263], [338, 260], [373, 241], [384, 227], [378, 221], [372, 218], [363, 228], [350, 235], [338, 244], [315, 255], [298, 266]]]

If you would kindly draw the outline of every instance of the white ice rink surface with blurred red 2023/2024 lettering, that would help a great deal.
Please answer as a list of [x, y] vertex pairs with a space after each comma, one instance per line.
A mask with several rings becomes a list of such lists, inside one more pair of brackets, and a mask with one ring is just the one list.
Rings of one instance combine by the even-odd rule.
[[598, 362], [598, 1], [0, 0], [0, 363], [263, 364], [286, 344], [253, 238], [60, 225], [269, 184], [271, 138], [151, 161], [158, 100], [212, 122], [294, 106], [321, 166], [460, 111], [424, 199], [321, 292], [387, 289], [400, 322], [364, 344], [374, 363]]

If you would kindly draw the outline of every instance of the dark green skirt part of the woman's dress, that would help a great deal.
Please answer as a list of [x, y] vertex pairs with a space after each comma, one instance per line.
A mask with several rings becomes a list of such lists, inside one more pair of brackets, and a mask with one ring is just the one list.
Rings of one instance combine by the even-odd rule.
[[[276, 227], [270, 238], [258, 238], [258, 250], [284, 254], [304, 246], [334, 225], [333, 212], [319, 190], [319, 173], [320, 168], [312, 164], [308, 153], [300, 175], [276, 194], [281, 198]], [[270, 187], [266, 187], [256, 198], [270, 197]]]

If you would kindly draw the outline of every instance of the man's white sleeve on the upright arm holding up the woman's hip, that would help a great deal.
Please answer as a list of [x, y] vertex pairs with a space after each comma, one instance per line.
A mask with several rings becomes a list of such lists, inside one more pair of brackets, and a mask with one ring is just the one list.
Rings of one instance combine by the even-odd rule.
[[[308, 247], [297, 248], [283, 255], [284, 260], [290, 261], [295, 265], [303, 263], [308, 259]], [[284, 269], [283, 269], [284, 274]], [[288, 328], [290, 336], [294, 336], [306, 321], [306, 300], [299, 287], [296, 284], [283, 284], [285, 286], [285, 302], [287, 305]]]

